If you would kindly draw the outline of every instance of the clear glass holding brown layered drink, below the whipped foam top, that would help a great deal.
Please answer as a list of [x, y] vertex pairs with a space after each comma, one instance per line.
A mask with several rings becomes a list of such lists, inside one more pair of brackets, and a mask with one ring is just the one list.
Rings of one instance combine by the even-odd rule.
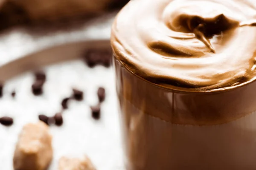
[[138, 77], [116, 58], [127, 170], [256, 169], [256, 82], [179, 91]]

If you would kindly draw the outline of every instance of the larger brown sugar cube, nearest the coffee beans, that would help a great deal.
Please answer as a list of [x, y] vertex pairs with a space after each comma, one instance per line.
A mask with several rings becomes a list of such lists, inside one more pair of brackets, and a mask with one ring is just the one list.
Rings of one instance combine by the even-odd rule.
[[52, 161], [52, 136], [44, 122], [25, 125], [16, 145], [14, 170], [46, 170]]

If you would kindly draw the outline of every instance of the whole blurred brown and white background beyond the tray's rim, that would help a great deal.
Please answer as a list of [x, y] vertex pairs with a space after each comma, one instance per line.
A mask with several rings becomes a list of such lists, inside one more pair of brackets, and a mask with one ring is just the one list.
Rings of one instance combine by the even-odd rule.
[[0, 0], [0, 64], [65, 42], [109, 39], [113, 17], [128, 1]]

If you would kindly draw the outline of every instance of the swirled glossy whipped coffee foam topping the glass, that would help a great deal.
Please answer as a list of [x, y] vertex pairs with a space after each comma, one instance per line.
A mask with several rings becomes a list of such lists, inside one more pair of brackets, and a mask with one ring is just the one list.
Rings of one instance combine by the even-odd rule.
[[155, 84], [226, 89], [256, 77], [254, 0], [132, 0], [113, 24], [116, 58]]

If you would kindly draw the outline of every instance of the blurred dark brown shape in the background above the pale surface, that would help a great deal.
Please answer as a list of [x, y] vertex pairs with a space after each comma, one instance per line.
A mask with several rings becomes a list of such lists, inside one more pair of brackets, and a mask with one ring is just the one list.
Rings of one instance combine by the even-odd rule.
[[115, 11], [128, 0], [0, 0], [0, 29], [87, 20]]

